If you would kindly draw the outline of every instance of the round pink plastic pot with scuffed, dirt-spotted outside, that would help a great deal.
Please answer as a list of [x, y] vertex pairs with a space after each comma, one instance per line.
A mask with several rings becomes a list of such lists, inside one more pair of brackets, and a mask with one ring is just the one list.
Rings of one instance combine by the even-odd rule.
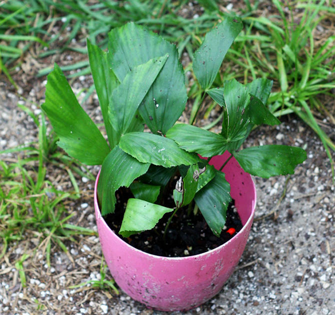
[[[210, 161], [217, 169], [229, 153]], [[253, 220], [256, 191], [251, 176], [234, 158], [223, 170], [242, 221], [242, 229], [228, 242], [188, 257], [161, 257], [140, 251], [121, 240], [101, 216], [96, 187], [94, 208], [103, 255], [120, 288], [133, 299], [159, 310], [186, 310], [214, 296], [232, 273], [245, 247]]]

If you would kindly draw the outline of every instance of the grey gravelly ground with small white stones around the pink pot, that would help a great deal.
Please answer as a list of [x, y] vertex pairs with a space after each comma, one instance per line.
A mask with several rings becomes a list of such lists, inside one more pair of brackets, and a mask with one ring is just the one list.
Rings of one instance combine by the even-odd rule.
[[[75, 91], [82, 82], [74, 84]], [[0, 149], [36, 141], [37, 130], [17, 102], [38, 113], [43, 82], [19, 99], [6, 84], [0, 84]], [[86, 109], [95, 121], [101, 114], [93, 98]], [[324, 149], [302, 122], [285, 119], [278, 127], [254, 130], [247, 141], [253, 144], [290, 144], [306, 148], [307, 160], [294, 175], [268, 180], [254, 178], [257, 187], [255, 221], [236, 271], [219, 294], [184, 314], [332, 314], [335, 309], [334, 185]], [[334, 156], [334, 154], [333, 154]], [[3, 160], [15, 155], [1, 156]], [[52, 167], [48, 176], [52, 177]], [[58, 170], [59, 171], [59, 170]], [[92, 169], [93, 173], [97, 168]], [[58, 186], [70, 189], [66, 172]], [[72, 222], [95, 229], [93, 181], [77, 178], [84, 192], [81, 199], [66, 203], [75, 212]], [[281, 195], [286, 184], [285, 195]], [[146, 309], [120, 292], [69, 286], [99, 277], [101, 251], [95, 235], [66, 242], [69, 253], [51, 247], [48, 268], [40, 235], [28, 230], [11, 243], [0, 260], [1, 314], [164, 314]], [[27, 286], [22, 288], [15, 261], [23, 252]], [[107, 271], [108, 273], [108, 271]], [[108, 278], [110, 275], [108, 273]], [[174, 312], [175, 314], [179, 312]]]

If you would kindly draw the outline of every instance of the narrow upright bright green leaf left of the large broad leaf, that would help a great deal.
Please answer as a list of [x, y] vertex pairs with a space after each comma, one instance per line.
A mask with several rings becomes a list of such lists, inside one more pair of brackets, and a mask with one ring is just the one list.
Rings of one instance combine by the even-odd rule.
[[113, 148], [117, 145], [118, 138], [108, 119], [108, 103], [111, 93], [118, 86], [119, 81], [108, 64], [108, 52], [104, 52], [97, 45], [91, 44], [88, 39], [87, 52], [109, 145]]

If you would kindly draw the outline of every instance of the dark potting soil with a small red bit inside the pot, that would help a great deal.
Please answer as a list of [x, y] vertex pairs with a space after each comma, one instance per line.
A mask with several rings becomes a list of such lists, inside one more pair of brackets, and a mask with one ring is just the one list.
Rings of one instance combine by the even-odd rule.
[[187, 208], [180, 208], [169, 224], [165, 240], [163, 239], [163, 233], [171, 213], [166, 213], [153, 229], [125, 238], [119, 235], [118, 231], [126, 205], [127, 198], [125, 197], [129, 197], [128, 194], [129, 191], [126, 188], [120, 188], [117, 191], [115, 211], [113, 214], [104, 216], [104, 219], [121, 239], [150, 254], [165, 257], [196, 255], [225, 243], [243, 226], [232, 201], [227, 209], [225, 228], [219, 237], [215, 236], [210, 230], [200, 211], [196, 215], [193, 215], [193, 213], [187, 215]]

